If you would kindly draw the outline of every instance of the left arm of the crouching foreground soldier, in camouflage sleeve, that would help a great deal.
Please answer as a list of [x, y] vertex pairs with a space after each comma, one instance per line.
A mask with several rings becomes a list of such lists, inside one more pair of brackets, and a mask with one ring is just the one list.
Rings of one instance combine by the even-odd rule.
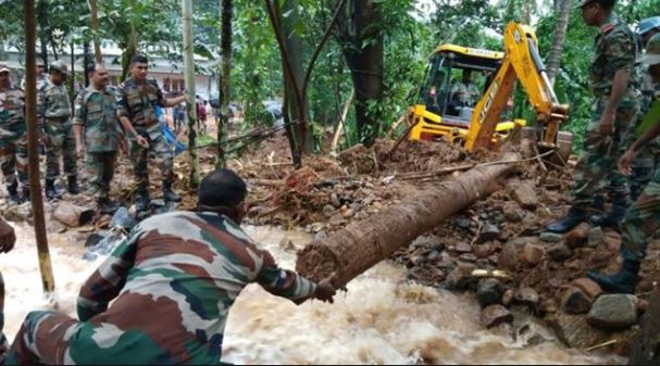
[[80, 321], [103, 313], [126, 285], [126, 276], [135, 263], [137, 240], [141, 231], [137, 226], [132, 235], [112, 252], [85, 281], [78, 293], [77, 311]]

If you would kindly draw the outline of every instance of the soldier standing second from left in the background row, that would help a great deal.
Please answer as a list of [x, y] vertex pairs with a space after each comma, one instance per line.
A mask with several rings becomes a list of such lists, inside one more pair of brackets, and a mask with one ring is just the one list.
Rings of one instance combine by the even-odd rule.
[[62, 61], [50, 66], [49, 80], [37, 93], [37, 116], [42, 124], [42, 140], [48, 148], [46, 156], [46, 197], [60, 199], [55, 179], [60, 176], [60, 160], [64, 161], [64, 174], [69, 178], [69, 192], [77, 194], [78, 167], [76, 163], [76, 142], [71, 123], [71, 105], [66, 91], [69, 71]]

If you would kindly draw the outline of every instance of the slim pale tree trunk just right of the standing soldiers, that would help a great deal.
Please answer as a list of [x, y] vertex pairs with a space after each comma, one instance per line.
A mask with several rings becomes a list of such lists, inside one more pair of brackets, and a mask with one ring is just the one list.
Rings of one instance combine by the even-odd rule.
[[197, 154], [197, 105], [195, 103], [195, 50], [192, 45], [192, 0], [182, 0], [184, 18], [184, 63], [186, 71], [186, 105], [188, 108], [188, 154], [190, 155], [190, 188], [199, 187], [199, 155]]

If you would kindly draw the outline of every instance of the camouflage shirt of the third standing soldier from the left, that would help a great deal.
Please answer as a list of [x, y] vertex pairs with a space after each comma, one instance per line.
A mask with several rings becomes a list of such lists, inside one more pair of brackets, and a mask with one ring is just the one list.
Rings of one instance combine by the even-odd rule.
[[119, 99], [119, 90], [110, 86], [103, 91], [89, 86], [76, 98], [73, 124], [84, 127], [88, 152], [117, 150], [121, 134], [116, 116]]

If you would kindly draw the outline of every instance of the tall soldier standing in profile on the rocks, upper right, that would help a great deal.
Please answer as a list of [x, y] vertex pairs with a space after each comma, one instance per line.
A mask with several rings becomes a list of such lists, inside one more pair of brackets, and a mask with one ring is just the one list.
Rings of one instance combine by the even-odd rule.
[[596, 101], [587, 127], [583, 151], [575, 167], [572, 206], [566, 216], [548, 226], [551, 232], [564, 234], [589, 218], [594, 197], [607, 186], [612, 211], [608, 223], [617, 227], [630, 204], [627, 179], [617, 172], [625, 134], [638, 113], [634, 74], [637, 46], [635, 34], [614, 14], [615, 0], [583, 0], [583, 18], [600, 27], [596, 37], [589, 84]]

